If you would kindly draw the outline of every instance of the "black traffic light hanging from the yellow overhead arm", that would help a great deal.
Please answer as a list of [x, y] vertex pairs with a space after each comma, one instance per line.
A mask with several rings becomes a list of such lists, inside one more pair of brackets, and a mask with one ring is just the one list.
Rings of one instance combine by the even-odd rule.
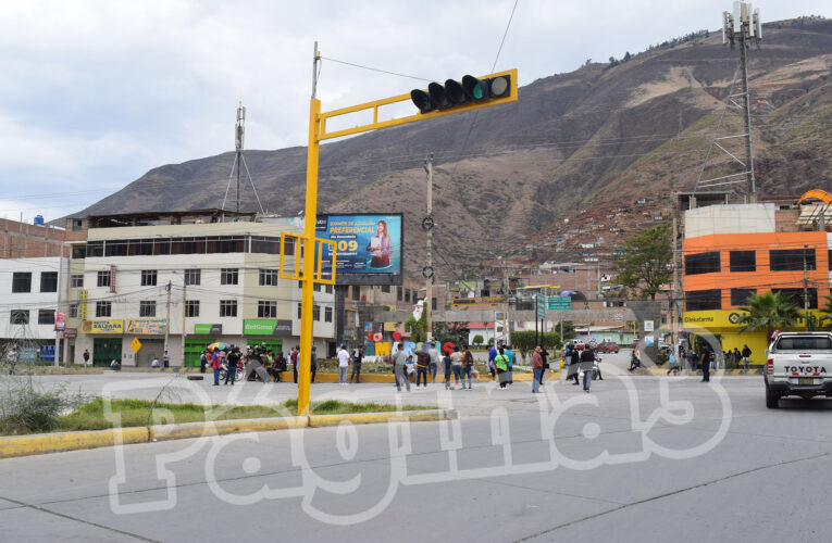
[[467, 75], [462, 77], [462, 81], [448, 79], [444, 86], [432, 83], [427, 86], [427, 92], [422, 89], [410, 91], [410, 99], [423, 114], [510, 96], [509, 74], [484, 78]]

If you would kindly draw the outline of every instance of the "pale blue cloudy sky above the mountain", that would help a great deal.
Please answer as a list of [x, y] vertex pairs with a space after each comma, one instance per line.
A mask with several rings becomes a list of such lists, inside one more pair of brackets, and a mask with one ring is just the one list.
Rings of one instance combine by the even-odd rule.
[[[829, 17], [830, 5], [769, 0], [754, 8], [770, 22]], [[315, 41], [323, 56], [318, 98], [328, 111], [493, 66], [517, 67], [526, 85], [588, 59], [607, 62], [691, 31], [717, 31], [731, 7], [729, 0], [3, 0], [0, 217], [52, 220], [151, 168], [233, 151], [240, 102], [246, 149], [306, 144]], [[411, 113], [401, 108], [388, 114]]]

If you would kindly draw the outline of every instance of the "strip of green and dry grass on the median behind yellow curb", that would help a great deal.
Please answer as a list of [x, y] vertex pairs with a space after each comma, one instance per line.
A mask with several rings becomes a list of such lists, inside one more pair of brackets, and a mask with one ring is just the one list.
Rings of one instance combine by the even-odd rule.
[[[298, 401], [288, 400], [278, 405], [197, 405], [157, 403], [147, 400], [113, 400], [113, 413], [121, 415], [122, 428], [142, 427], [150, 425], [202, 422], [208, 420], [233, 420], [246, 418], [269, 418], [297, 415]], [[338, 415], [348, 413], [384, 413], [396, 411], [394, 404], [352, 403], [337, 400], [312, 402], [313, 415]], [[402, 409], [435, 409], [431, 405], [405, 405]], [[78, 431], [107, 430], [113, 424], [104, 417], [104, 402], [98, 397], [88, 402], [72, 413], [57, 417], [55, 424], [49, 428], [10, 428], [0, 425], [0, 435], [21, 435], [39, 431]]]

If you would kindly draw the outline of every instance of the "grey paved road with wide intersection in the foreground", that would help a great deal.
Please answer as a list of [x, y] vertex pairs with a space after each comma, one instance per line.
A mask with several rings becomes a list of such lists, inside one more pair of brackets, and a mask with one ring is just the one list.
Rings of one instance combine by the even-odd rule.
[[[2, 539], [810, 541], [832, 530], [832, 401], [770, 411], [759, 377], [706, 384], [612, 374], [589, 394], [560, 383], [536, 396], [529, 383], [401, 394], [460, 408], [452, 424], [0, 460]], [[275, 401], [291, 392], [265, 387]], [[211, 397], [222, 400], [216, 389]], [[238, 399], [256, 389], [264, 386]], [[313, 388], [316, 397], [381, 400], [393, 390]]]

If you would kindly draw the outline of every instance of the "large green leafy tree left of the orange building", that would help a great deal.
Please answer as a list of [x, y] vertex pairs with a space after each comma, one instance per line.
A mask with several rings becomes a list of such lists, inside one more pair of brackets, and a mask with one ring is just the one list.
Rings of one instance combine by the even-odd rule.
[[659, 288], [672, 275], [670, 237], [670, 225], [646, 228], [631, 236], [624, 243], [624, 256], [613, 264], [619, 272], [618, 282], [637, 290], [642, 299], [656, 300]]

